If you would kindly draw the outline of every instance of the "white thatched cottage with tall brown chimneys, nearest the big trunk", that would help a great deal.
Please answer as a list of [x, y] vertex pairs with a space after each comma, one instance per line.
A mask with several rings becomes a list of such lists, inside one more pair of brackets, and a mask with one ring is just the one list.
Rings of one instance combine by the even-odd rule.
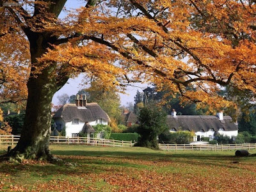
[[87, 103], [86, 95], [77, 95], [76, 104], [65, 104], [53, 116], [56, 129], [65, 129], [66, 138], [74, 138], [80, 131], [93, 136], [92, 125], [108, 125], [109, 116], [96, 102]]

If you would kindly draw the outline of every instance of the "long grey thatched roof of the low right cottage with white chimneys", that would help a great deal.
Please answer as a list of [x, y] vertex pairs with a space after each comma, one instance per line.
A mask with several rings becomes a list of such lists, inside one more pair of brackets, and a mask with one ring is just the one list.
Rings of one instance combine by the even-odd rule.
[[177, 115], [167, 116], [167, 125], [170, 129], [176, 131], [219, 131], [222, 128], [224, 131], [237, 131], [237, 124], [232, 122], [230, 116], [223, 116], [223, 120], [220, 120], [217, 116], [213, 115]]

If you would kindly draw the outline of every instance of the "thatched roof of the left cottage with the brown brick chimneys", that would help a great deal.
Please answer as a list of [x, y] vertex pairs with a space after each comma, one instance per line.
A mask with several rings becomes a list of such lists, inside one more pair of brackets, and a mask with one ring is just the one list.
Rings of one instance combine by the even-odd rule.
[[86, 104], [86, 108], [77, 108], [76, 104], [65, 104], [53, 118], [62, 118], [65, 122], [71, 122], [75, 118], [83, 122], [92, 122], [99, 118], [110, 120], [108, 114], [96, 102]]

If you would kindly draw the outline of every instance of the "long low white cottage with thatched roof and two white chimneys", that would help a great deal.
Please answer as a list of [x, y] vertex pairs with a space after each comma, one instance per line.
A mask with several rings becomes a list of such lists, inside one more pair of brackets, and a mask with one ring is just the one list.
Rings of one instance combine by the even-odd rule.
[[202, 137], [214, 139], [215, 134], [223, 136], [237, 136], [238, 125], [232, 121], [230, 116], [223, 116], [223, 113], [214, 115], [172, 115], [167, 116], [167, 125], [170, 132], [193, 131], [195, 132], [194, 141], [200, 141]]

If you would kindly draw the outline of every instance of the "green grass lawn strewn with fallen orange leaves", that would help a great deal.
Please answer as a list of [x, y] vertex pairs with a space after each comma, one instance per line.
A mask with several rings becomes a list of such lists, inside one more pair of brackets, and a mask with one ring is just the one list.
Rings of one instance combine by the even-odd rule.
[[234, 150], [52, 145], [51, 151], [76, 165], [1, 163], [0, 191], [256, 191], [256, 157], [235, 157]]

